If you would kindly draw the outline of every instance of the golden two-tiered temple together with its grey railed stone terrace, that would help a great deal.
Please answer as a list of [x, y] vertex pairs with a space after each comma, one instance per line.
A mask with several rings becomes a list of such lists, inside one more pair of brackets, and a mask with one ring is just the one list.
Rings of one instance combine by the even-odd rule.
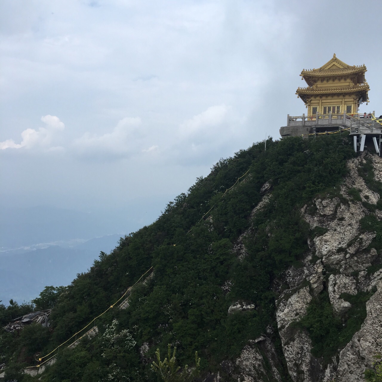
[[370, 90], [365, 79], [366, 66], [350, 66], [333, 57], [318, 69], [300, 74], [307, 87], [298, 87], [296, 94], [304, 101], [308, 113], [287, 115], [286, 126], [280, 128], [282, 138], [316, 138], [322, 134], [346, 133], [353, 137], [354, 151], [374, 147], [382, 150], [382, 115], [375, 111], [358, 113], [359, 105], [369, 102]]

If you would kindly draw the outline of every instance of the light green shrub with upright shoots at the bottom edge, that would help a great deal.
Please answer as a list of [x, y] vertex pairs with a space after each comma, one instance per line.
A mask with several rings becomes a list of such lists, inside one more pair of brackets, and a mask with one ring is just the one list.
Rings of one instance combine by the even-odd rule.
[[151, 369], [157, 373], [157, 375], [163, 380], [163, 382], [191, 382], [200, 375], [200, 358], [197, 357], [197, 351], [195, 352], [195, 367], [189, 369], [188, 365], [183, 367], [183, 371], [180, 371], [180, 366], [176, 362], [176, 346], [172, 350], [171, 344], [167, 345], [167, 358], [160, 360], [159, 348], [155, 351], [157, 356], [157, 363], [155, 361], [151, 364]]

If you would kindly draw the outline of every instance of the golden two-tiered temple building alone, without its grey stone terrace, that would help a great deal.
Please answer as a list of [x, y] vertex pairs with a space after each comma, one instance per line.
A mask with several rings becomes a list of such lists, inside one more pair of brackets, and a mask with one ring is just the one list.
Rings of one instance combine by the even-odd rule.
[[355, 114], [362, 102], [369, 102], [370, 90], [365, 79], [366, 66], [350, 66], [333, 57], [318, 69], [300, 74], [308, 87], [298, 87], [296, 94], [308, 108], [307, 117], [317, 114]]

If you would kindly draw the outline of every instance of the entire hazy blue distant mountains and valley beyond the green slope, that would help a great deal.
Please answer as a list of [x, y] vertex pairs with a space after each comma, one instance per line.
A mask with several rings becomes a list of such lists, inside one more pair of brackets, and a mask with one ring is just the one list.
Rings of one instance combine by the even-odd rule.
[[[124, 234], [157, 219], [160, 197], [92, 212], [53, 206], [0, 205], [0, 300], [21, 303], [47, 285], [67, 285], [100, 251], [110, 252]], [[3, 201], [4, 202], [4, 201]]]

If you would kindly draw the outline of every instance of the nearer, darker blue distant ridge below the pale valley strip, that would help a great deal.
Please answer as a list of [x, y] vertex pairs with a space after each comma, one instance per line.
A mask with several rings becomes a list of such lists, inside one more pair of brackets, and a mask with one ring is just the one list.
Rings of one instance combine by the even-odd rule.
[[120, 236], [107, 235], [85, 242], [71, 240], [60, 245], [47, 243], [47, 248], [29, 251], [22, 248], [3, 251], [0, 253], [0, 300], [5, 305], [10, 299], [22, 303], [36, 298], [47, 285], [70, 284], [76, 274], [86, 272], [100, 251], [112, 251]]

